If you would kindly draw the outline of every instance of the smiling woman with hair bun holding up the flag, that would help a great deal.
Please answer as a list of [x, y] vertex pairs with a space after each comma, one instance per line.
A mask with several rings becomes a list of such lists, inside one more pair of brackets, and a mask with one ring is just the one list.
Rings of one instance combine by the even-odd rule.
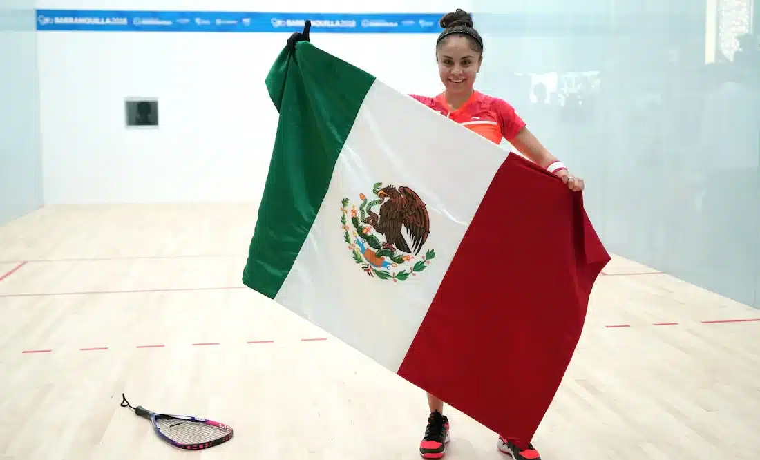
[[[435, 97], [417, 94], [410, 94], [410, 97], [496, 144], [501, 143], [502, 138], [507, 139], [525, 157], [561, 177], [569, 189], [583, 190], [583, 179], [570, 174], [543, 147], [509, 103], [473, 89], [483, 62], [483, 39], [473, 28], [470, 14], [458, 9], [445, 14], [440, 24], [444, 30], [435, 44], [435, 57], [445, 90]], [[420, 443], [420, 454], [423, 458], [442, 458], [449, 440], [449, 422], [443, 415], [443, 401], [431, 394], [427, 398], [430, 414]], [[515, 441], [517, 439], [504, 433], [499, 436], [497, 447], [515, 460], [540, 460], [531, 444], [527, 449], [520, 449]]]

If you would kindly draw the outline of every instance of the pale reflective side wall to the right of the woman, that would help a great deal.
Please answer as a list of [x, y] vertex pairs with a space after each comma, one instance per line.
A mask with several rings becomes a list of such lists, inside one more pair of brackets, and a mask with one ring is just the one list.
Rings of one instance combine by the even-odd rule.
[[587, 179], [610, 252], [760, 306], [758, 5], [473, 4], [479, 89]]

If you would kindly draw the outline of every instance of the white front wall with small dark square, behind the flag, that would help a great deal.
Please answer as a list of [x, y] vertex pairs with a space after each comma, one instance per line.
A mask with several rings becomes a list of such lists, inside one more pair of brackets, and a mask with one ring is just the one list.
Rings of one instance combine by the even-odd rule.
[[[154, 1], [38, 0], [152, 10]], [[452, 0], [163, 0], [180, 11], [445, 12]], [[258, 201], [277, 125], [264, 78], [290, 33], [38, 33], [46, 205]], [[442, 90], [434, 34], [312, 33], [398, 90]], [[157, 97], [160, 128], [125, 128], [125, 97]]]

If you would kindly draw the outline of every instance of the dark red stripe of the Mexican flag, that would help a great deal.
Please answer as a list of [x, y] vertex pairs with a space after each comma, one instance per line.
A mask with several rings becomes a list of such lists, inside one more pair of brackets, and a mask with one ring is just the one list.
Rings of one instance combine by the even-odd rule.
[[582, 195], [510, 154], [398, 374], [527, 446], [559, 389], [591, 287], [609, 261]]

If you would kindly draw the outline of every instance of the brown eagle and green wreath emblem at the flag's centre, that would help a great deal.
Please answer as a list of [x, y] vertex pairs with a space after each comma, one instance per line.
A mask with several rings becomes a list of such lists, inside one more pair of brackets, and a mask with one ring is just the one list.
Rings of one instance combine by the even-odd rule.
[[358, 209], [349, 198], [343, 198], [340, 224], [344, 241], [353, 261], [370, 277], [406, 281], [435, 258], [433, 249], [420, 254], [430, 235], [427, 206], [420, 195], [405, 186], [377, 182], [372, 195], [377, 198], [369, 201], [360, 193]]

